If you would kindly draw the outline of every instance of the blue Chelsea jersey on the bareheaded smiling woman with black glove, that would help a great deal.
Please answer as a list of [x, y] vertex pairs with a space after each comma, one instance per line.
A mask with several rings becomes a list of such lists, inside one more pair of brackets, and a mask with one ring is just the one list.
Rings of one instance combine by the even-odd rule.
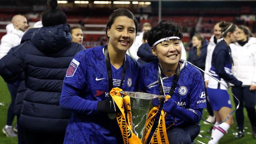
[[[108, 74], [103, 50], [104, 46], [98, 46], [79, 52], [67, 70], [64, 83], [81, 90], [80, 97], [85, 100], [101, 101], [109, 96]], [[120, 83], [123, 67], [116, 69], [111, 65], [113, 87], [135, 91], [140, 66], [128, 55], [125, 57], [125, 63], [126, 72], [122, 86]], [[72, 143], [75, 138], [77, 143], [117, 144], [120, 142], [117, 137], [121, 133], [116, 121], [110, 120], [107, 114], [86, 115], [74, 112], [67, 126], [65, 142]]]

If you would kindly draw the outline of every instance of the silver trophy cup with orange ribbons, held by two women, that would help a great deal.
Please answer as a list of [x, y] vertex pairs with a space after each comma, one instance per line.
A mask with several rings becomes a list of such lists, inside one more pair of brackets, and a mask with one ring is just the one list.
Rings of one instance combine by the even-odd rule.
[[132, 132], [142, 140], [148, 112], [154, 107], [152, 100], [154, 98], [159, 98], [161, 100], [165, 97], [143, 92], [122, 91], [120, 93], [126, 93], [130, 96], [132, 111]]

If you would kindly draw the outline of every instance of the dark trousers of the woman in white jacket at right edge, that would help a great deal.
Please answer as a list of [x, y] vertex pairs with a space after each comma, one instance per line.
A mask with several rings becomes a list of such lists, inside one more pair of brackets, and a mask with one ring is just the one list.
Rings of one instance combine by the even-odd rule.
[[[233, 94], [240, 101], [239, 108], [236, 111], [236, 121], [239, 131], [243, 131], [243, 123], [244, 123], [244, 114], [243, 108], [245, 107], [247, 110], [247, 114], [250, 120], [252, 127], [256, 127], [256, 111], [255, 111], [255, 103], [256, 103], [256, 90], [250, 90], [250, 86], [247, 87], [232, 87]], [[238, 105], [238, 101], [234, 98], [234, 102], [236, 106]]]

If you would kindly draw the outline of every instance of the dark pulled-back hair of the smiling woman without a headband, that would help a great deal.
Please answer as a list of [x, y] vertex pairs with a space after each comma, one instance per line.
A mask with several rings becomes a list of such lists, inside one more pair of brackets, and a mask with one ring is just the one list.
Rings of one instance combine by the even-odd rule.
[[112, 24], [115, 21], [115, 18], [121, 17], [121, 16], [126, 16], [126, 17], [131, 18], [132, 20], [134, 20], [135, 33], [137, 34], [138, 21], [135, 18], [134, 14], [131, 11], [129, 11], [128, 9], [121, 8], [121, 9], [116, 9], [113, 13], [111, 13], [111, 15], [108, 18], [108, 23], [107, 23], [107, 27], [106, 27], [106, 35], [107, 35], [107, 37], [108, 37], [108, 28], [111, 28]]

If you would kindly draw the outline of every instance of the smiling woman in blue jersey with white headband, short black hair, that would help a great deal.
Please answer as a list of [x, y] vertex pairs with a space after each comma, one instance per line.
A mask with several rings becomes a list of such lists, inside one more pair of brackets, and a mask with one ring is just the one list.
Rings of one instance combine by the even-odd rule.
[[[157, 102], [153, 100], [153, 105], [160, 104], [167, 113], [165, 125], [170, 144], [191, 144], [200, 132], [199, 121], [206, 107], [204, 81], [200, 71], [180, 61], [181, 39], [182, 30], [174, 22], [162, 20], [153, 27], [147, 40], [158, 61], [143, 66], [139, 77], [139, 90], [171, 96], [164, 103], [158, 99]], [[158, 81], [160, 77], [163, 81]], [[157, 118], [155, 123], [158, 123]], [[151, 132], [154, 129], [153, 126]]]

